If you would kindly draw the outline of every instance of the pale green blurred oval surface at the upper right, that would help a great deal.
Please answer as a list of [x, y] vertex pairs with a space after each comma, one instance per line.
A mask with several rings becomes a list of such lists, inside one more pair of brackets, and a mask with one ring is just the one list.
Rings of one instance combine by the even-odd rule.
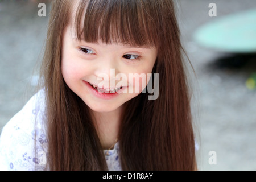
[[212, 17], [193, 34], [201, 46], [235, 53], [256, 53], [256, 9]]

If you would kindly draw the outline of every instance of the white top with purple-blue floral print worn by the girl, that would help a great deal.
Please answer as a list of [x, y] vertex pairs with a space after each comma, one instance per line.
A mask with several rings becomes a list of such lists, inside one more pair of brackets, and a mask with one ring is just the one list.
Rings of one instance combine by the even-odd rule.
[[[44, 95], [41, 90], [3, 127], [0, 137], [0, 170], [47, 170], [48, 139], [43, 111]], [[109, 170], [121, 170], [118, 154], [117, 143], [109, 155], [105, 155]]]

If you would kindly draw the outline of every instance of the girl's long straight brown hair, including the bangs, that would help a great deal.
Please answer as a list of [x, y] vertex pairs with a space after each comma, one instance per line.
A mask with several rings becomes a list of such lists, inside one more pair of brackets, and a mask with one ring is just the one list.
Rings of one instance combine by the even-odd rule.
[[41, 69], [49, 169], [108, 169], [88, 106], [68, 88], [61, 74], [62, 38], [73, 9], [80, 40], [158, 48], [152, 75], [159, 73], [159, 97], [148, 100], [148, 93], [141, 93], [125, 103], [119, 129], [122, 169], [195, 169], [189, 89], [173, 2], [79, 0], [76, 8], [74, 2], [52, 2]]

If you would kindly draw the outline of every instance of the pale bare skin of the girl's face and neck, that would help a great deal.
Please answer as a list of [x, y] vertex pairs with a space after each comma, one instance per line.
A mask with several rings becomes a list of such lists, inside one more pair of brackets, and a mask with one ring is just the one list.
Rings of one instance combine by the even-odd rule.
[[[118, 73], [127, 75], [127, 78], [129, 73], [147, 75], [152, 72], [157, 51], [155, 47], [79, 41], [73, 30], [72, 24], [69, 24], [64, 31], [61, 60], [63, 78], [69, 88], [89, 106], [102, 147], [109, 149], [118, 137], [123, 104], [139, 93], [120, 93], [111, 99], [99, 98], [85, 82], [99, 84], [97, 78], [101, 73], [109, 76], [108, 81]], [[115, 75], [110, 75], [110, 69], [115, 69]], [[106, 85], [110, 85], [109, 82]], [[133, 80], [127, 81], [124, 86], [133, 87]], [[143, 89], [141, 87], [140, 92]]]

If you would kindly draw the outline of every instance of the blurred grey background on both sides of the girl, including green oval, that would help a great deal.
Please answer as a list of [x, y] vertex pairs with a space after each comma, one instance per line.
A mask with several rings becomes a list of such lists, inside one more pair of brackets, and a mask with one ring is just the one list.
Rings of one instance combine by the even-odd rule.
[[[40, 2], [46, 17], [38, 16]], [[191, 84], [199, 170], [255, 170], [256, 1], [175, 2], [196, 74]], [[47, 1], [0, 1], [0, 130], [35, 92], [49, 9]]]

